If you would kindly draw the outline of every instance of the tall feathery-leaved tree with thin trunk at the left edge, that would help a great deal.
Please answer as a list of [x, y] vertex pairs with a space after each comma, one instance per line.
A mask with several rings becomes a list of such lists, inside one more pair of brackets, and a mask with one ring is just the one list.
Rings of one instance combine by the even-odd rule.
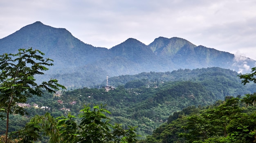
[[26, 112], [16, 103], [25, 103], [27, 98], [42, 96], [42, 90], [49, 93], [59, 88], [58, 80], [50, 79], [48, 82], [36, 83], [35, 75], [43, 75], [48, 66], [53, 65], [53, 60], [43, 57], [39, 50], [19, 49], [17, 54], [3, 54], [0, 56], [0, 113], [2, 119], [6, 118], [6, 131], [4, 142], [8, 141], [9, 115]]

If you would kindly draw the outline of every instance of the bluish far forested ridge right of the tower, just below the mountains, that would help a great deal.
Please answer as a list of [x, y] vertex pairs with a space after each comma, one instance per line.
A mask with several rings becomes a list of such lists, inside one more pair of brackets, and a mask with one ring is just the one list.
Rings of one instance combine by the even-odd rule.
[[[108, 79], [108, 84], [112, 86], [124, 85], [126, 88], [138, 88], [140, 86], [158, 87], [165, 82], [174, 81], [193, 81], [199, 82], [212, 91], [213, 95], [220, 100], [225, 96], [244, 95], [245, 87], [240, 84], [241, 80], [238, 74], [229, 69], [219, 67], [202, 68], [202, 69], [178, 69], [172, 72], [149, 72], [136, 75], [116, 76]], [[103, 86], [105, 82], [103, 82]], [[250, 92], [255, 91], [255, 86], [248, 85]], [[221, 88], [221, 90], [219, 90]]]

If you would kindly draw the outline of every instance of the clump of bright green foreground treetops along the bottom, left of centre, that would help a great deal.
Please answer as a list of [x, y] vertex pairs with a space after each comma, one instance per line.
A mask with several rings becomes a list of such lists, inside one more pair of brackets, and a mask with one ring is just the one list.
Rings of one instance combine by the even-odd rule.
[[22, 130], [16, 132], [16, 138], [21, 143], [33, 143], [42, 139], [41, 135], [49, 137], [49, 143], [135, 143], [137, 134], [135, 127], [125, 130], [121, 124], [111, 125], [105, 113], [110, 113], [104, 106], [94, 106], [91, 110], [86, 105], [78, 117], [79, 125], [74, 115], [68, 117], [52, 117], [49, 113], [33, 117]]

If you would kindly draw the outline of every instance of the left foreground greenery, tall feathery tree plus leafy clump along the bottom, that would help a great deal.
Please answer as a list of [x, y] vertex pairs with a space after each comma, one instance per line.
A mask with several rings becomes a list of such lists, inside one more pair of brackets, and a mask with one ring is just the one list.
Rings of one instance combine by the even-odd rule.
[[[40, 55], [39, 55], [39, 54]], [[49, 80], [38, 85], [34, 76], [44, 74], [48, 70], [45, 66], [53, 65], [52, 60], [44, 59], [39, 50], [20, 49], [18, 54], [4, 54], [0, 56], [0, 117], [6, 121], [5, 135], [0, 141], [4, 143], [21, 142], [33, 143], [45, 135], [51, 143], [134, 143], [137, 134], [134, 127], [124, 129], [121, 124], [109, 124], [109, 118], [104, 113], [110, 113], [103, 106], [94, 106], [93, 111], [89, 106], [84, 106], [78, 115], [81, 118], [79, 126], [74, 120], [75, 116], [53, 117], [48, 112], [45, 115], [35, 115], [24, 128], [9, 132], [9, 116], [25, 115], [27, 111], [19, 103], [27, 102], [34, 95], [42, 96], [43, 89], [48, 93], [56, 93], [59, 87], [57, 80]], [[28, 106], [30, 107], [30, 106]], [[43, 106], [44, 110], [49, 107]], [[36, 114], [34, 112], [34, 114]], [[17, 120], [20, 122], [20, 120]], [[17, 130], [16, 128], [14, 128]]]

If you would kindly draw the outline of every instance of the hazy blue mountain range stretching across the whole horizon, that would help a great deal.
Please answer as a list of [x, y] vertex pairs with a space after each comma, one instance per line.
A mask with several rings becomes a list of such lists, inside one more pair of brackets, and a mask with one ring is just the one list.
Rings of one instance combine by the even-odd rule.
[[17, 53], [19, 48], [28, 47], [54, 60], [54, 66], [40, 80], [57, 78], [59, 83], [71, 87], [101, 84], [106, 76], [176, 69], [221, 67], [249, 73], [256, 63], [250, 58], [196, 46], [177, 37], [158, 37], [149, 45], [129, 38], [110, 49], [99, 48], [83, 43], [64, 28], [53, 28], [41, 22], [0, 39], [0, 54]]

